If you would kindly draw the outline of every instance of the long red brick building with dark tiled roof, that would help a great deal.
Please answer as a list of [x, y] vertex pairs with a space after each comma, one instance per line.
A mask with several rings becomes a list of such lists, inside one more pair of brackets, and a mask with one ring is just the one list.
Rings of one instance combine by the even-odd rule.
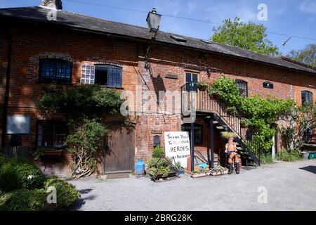
[[[20, 145], [29, 147], [30, 157], [41, 146], [60, 149], [60, 157], [37, 162], [48, 173], [69, 171], [71, 162], [71, 156], [62, 150], [67, 129], [62, 122], [65, 120], [56, 117], [44, 121], [34, 108], [41, 94], [56, 80], [63, 88], [84, 83], [130, 91], [135, 96], [138, 94], [134, 103], [140, 111], [140, 102], [152, 99], [144, 95], [145, 91], [152, 91], [156, 96], [159, 91], [180, 92], [186, 82], [212, 84], [221, 74], [236, 79], [245, 96], [293, 98], [298, 103], [302, 99], [316, 100], [315, 68], [167, 32], [159, 32], [150, 44], [147, 28], [62, 10], [55, 11], [56, 20], [48, 20], [51, 10], [42, 6], [0, 9], [1, 146], [10, 146], [13, 134], [18, 134]], [[145, 53], [149, 45], [150, 70], [147, 70]], [[154, 101], [167, 98], [164, 95]], [[166, 101], [166, 105], [172, 104], [172, 98]], [[173, 105], [171, 114], [164, 113], [161, 107], [157, 107], [158, 113], [154, 115], [140, 115], [133, 132], [114, 131], [111, 144], [119, 154], [117, 158], [102, 160], [100, 173], [129, 172], [134, 160], [151, 157], [154, 136], [160, 136], [164, 146], [164, 131], [189, 129], [183, 124], [179, 104]], [[24, 127], [19, 121], [24, 122]], [[223, 150], [221, 129], [228, 127], [246, 138], [246, 129], [240, 127], [238, 118], [228, 117], [224, 105], [205, 91], [198, 91], [195, 150], [204, 155], [211, 148], [211, 123], [217, 127], [212, 136], [213, 150], [218, 155]], [[123, 137], [128, 149], [120, 143]], [[277, 150], [281, 149], [279, 137], [276, 143]], [[239, 145], [246, 148], [242, 141]]]

